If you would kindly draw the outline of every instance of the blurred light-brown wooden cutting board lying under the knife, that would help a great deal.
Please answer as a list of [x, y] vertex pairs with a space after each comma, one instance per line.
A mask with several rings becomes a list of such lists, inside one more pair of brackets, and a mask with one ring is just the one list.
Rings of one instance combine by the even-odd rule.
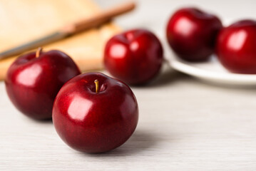
[[[73, 21], [100, 11], [91, 0], [11, 0], [0, 1], [0, 51], [32, 41]], [[114, 24], [83, 31], [44, 46], [68, 53], [81, 71], [103, 68], [103, 49], [108, 38], [121, 31]], [[3, 80], [16, 56], [0, 61]]]

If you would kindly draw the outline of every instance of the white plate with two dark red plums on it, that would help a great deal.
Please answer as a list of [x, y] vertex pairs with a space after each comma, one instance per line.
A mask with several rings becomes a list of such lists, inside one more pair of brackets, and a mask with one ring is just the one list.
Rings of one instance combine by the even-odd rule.
[[213, 83], [229, 84], [236, 86], [256, 86], [256, 74], [237, 74], [227, 71], [216, 56], [211, 56], [210, 61], [191, 63], [183, 61], [170, 52], [170, 47], [165, 44], [165, 57], [176, 71], [200, 78]]

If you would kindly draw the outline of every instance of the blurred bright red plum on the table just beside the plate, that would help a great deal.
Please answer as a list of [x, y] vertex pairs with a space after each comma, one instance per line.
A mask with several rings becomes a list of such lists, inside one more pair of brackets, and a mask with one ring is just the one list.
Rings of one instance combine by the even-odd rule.
[[150, 31], [134, 29], [113, 36], [104, 53], [105, 68], [112, 76], [130, 85], [148, 83], [163, 62], [163, 48]]

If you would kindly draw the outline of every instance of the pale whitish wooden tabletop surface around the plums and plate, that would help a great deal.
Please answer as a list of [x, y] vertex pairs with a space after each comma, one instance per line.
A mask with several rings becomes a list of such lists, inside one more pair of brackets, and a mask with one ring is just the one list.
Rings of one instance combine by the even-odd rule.
[[[139, 1], [136, 11], [116, 22], [163, 37], [168, 16], [185, 4]], [[190, 4], [222, 19], [256, 16], [255, 1]], [[165, 65], [150, 85], [132, 89], [140, 109], [135, 133], [116, 150], [90, 155], [64, 144], [51, 122], [21, 115], [0, 83], [0, 170], [256, 170], [256, 88], [203, 83]]]

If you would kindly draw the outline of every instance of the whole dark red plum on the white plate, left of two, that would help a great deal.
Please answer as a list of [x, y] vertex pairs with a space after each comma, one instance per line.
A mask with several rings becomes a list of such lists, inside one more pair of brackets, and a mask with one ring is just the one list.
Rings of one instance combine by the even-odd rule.
[[170, 17], [166, 36], [178, 57], [185, 61], [206, 61], [214, 52], [221, 28], [217, 16], [196, 8], [183, 8]]

